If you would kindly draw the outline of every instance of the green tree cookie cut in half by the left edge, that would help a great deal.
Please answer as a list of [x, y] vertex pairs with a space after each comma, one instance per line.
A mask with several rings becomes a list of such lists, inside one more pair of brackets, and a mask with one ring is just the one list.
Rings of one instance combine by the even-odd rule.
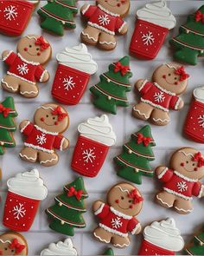
[[7, 97], [0, 104], [0, 154], [4, 154], [3, 148], [14, 148], [16, 142], [12, 133], [16, 131], [14, 118], [17, 116], [14, 99]]

